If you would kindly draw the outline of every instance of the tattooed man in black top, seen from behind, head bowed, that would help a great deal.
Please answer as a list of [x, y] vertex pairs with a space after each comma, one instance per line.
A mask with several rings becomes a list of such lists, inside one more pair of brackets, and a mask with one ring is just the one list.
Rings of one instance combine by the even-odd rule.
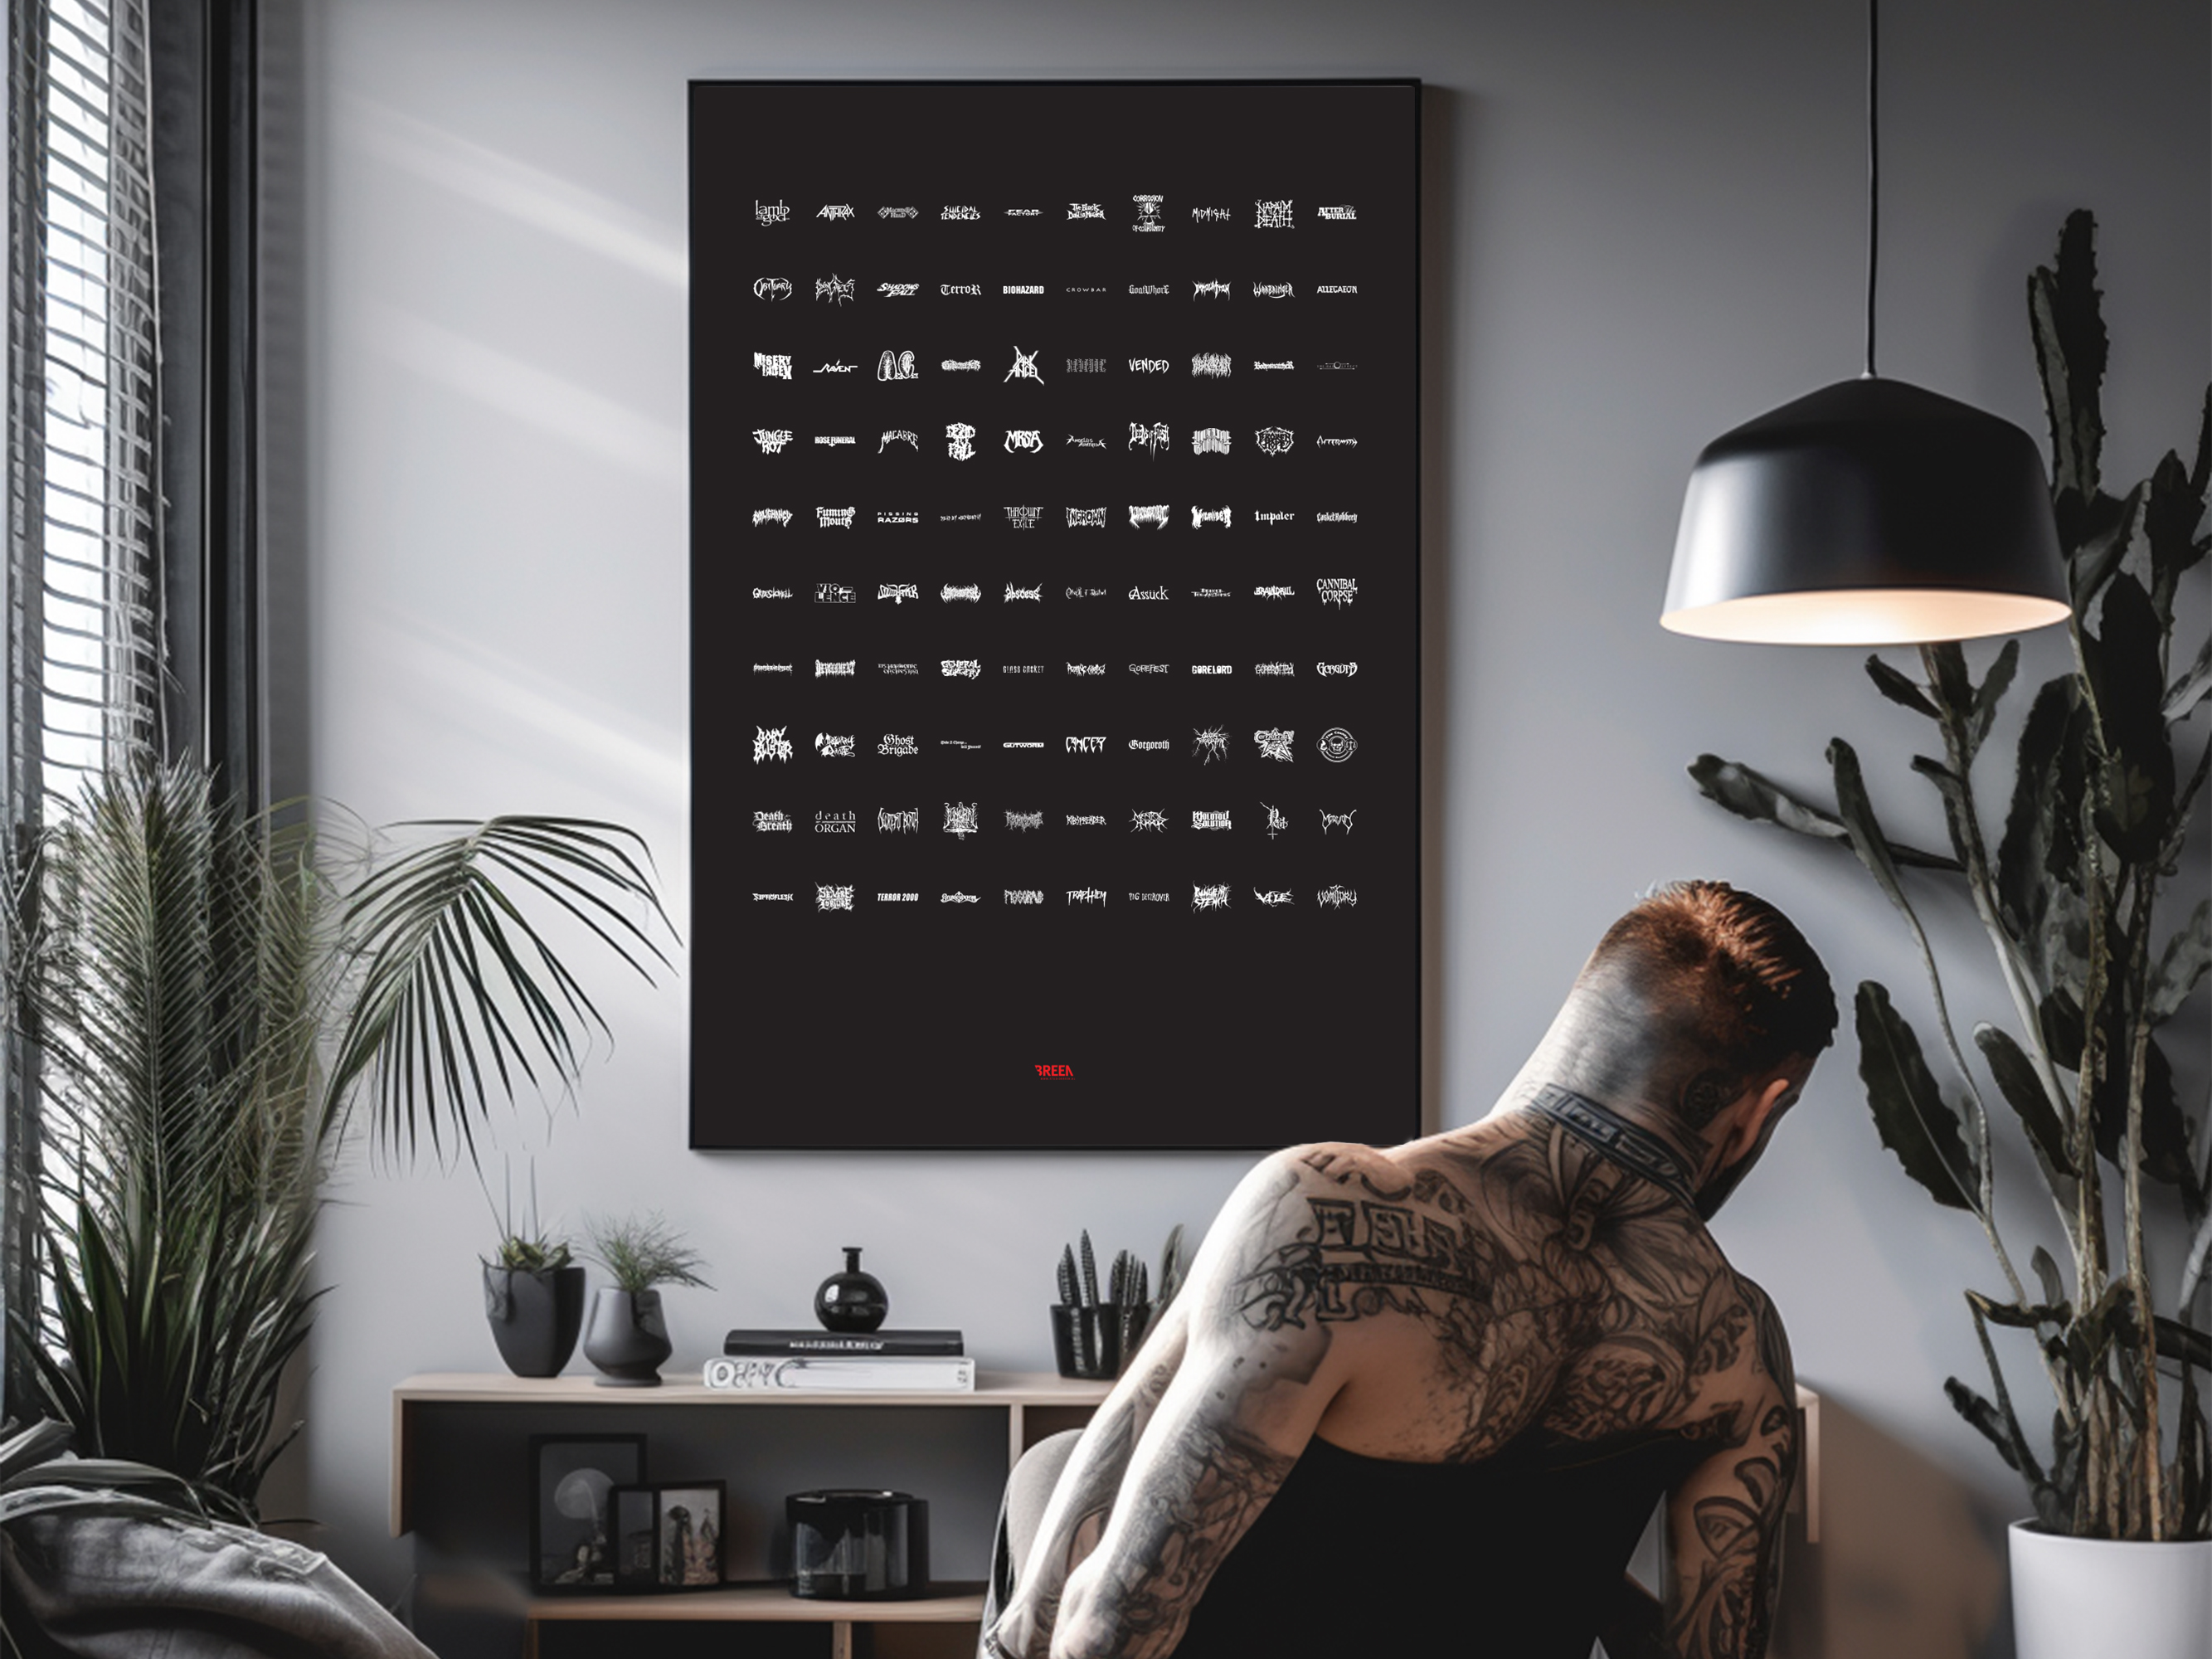
[[[1705, 1219], [1834, 1029], [1781, 911], [1683, 883], [1613, 925], [1482, 1121], [1263, 1161], [984, 1652], [1759, 1659], [1794, 1383]], [[1655, 1599], [1626, 1564], [1661, 1500]]]

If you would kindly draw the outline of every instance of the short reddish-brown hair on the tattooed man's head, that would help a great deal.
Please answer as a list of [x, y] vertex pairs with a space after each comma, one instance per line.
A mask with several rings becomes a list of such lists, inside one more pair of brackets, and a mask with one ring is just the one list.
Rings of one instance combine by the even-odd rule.
[[1836, 1040], [1836, 991], [1774, 905], [1725, 880], [1657, 887], [1617, 920], [1590, 969], [1683, 1006], [1697, 1042], [1739, 1077], [1816, 1057]]

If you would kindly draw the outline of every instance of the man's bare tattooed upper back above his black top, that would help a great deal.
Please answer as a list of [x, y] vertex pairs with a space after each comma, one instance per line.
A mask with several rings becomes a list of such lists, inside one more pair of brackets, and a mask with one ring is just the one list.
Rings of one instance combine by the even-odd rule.
[[1340, 1354], [1323, 1440], [1471, 1462], [1531, 1429], [1728, 1438], [1752, 1409], [1765, 1298], [1688, 1192], [1568, 1121], [1511, 1113], [1449, 1139], [1272, 1161], [1285, 1190], [1237, 1314], [1287, 1332], [1301, 1358]]

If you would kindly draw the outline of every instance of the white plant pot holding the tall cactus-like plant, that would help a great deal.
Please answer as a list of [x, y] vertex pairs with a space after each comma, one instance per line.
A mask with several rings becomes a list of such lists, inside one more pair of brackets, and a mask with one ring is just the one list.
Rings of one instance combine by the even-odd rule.
[[2212, 1659], [2212, 1540], [2115, 1544], [2013, 1522], [2020, 1659]]

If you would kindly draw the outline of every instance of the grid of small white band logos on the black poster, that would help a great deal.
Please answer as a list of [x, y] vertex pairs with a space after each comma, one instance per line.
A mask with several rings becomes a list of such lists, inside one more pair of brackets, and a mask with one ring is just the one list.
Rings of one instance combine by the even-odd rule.
[[[1164, 719], [1157, 699], [1135, 714], [1113, 690], [1115, 681], [1183, 681], [1197, 688], [1197, 710], [1203, 690], [1228, 679], [1349, 688], [1360, 675], [1356, 633], [1345, 630], [1343, 648], [1325, 641], [1316, 655], [1307, 650], [1316, 633], [1305, 626], [1310, 615], [1347, 617], [1363, 599], [1374, 604], [1360, 524], [1365, 515], [1374, 526], [1383, 504], [1363, 500], [1360, 471], [1347, 462], [1376, 434], [1360, 429], [1358, 400], [1338, 396], [1360, 369], [1345, 345], [1360, 336], [1354, 319], [1363, 283], [1352, 272], [1371, 268], [1354, 257], [1363, 234], [1358, 201], [1170, 204], [1159, 192], [1133, 192], [1037, 206], [878, 206], [774, 197], [752, 199], [750, 212], [752, 230], [772, 234], [748, 239], [759, 270], [732, 301], [752, 345], [741, 354], [750, 358], [743, 389], [732, 392], [748, 447], [730, 467], [745, 504], [737, 515], [741, 546], [728, 555], [743, 562], [754, 613], [739, 633], [750, 730], [741, 748], [757, 774], [748, 794], [783, 799], [750, 807], [748, 834], [763, 849], [776, 841], [810, 847], [803, 860], [765, 852], [750, 860], [761, 880], [750, 902], [825, 916], [876, 905], [1356, 911], [1352, 849], [1374, 812], [1358, 783], [1356, 703], [1323, 726], [1261, 719], [1237, 728], [1199, 712]], [[883, 234], [852, 237], [854, 226], [880, 232], [916, 221], [993, 223], [1000, 234], [980, 259], [949, 254], [942, 239], [902, 257]], [[1031, 281], [1033, 272], [1018, 270], [1022, 243], [1004, 234], [1024, 223], [1037, 246], [1062, 250], [1102, 232], [1157, 237], [1137, 246], [1175, 250], [1146, 259], [1150, 270], [1135, 279]], [[1296, 261], [1301, 274], [1285, 274], [1272, 265], [1292, 261], [1270, 261], [1252, 237], [1237, 241], [1234, 259], [1214, 257], [1206, 237], [1228, 228], [1329, 239], [1329, 250], [1343, 254], [1343, 279], [1327, 279], [1329, 252], [1321, 254], [1323, 276], [1307, 276], [1312, 250]], [[1040, 303], [1048, 305], [1024, 312]], [[1164, 303], [1172, 303], [1172, 325], [1148, 330], [1144, 307]], [[1113, 325], [1088, 325], [1082, 310], [1071, 312], [1086, 305]], [[1106, 307], [1137, 310], [1115, 316]], [[1292, 312], [1296, 321], [1287, 323]], [[1161, 336], [1157, 349], [1086, 347], [1088, 338], [1148, 332]], [[927, 349], [907, 343], [911, 336], [947, 345]], [[1177, 349], [1166, 347], [1170, 336]], [[1190, 349], [1197, 336], [1206, 338]], [[1073, 387], [1073, 396], [1022, 403], [1055, 383]], [[942, 389], [936, 403], [916, 398], [922, 385]], [[1139, 405], [1141, 418], [1130, 418]], [[1179, 465], [1164, 469], [1164, 460]], [[1015, 489], [1031, 498], [991, 500]], [[1201, 568], [1197, 560], [1155, 560], [1159, 568], [1130, 580], [1126, 551], [1155, 546], [1150, 538], [1206, 551], [1234, 546], [1237, 557], [1206, 562], [1199, 580], [1186, 575]], [[1046, 540], [1051, 555], [1035, 568], [989, 580], [971, 568], [987, 562], [978, 549], [1002, 555]], [[1248, 650], [1221, 661], [1230, 650], [1203, 650], [1188, 630], [1170, 637], [1150, 626], [1166, 606], [1234, 617], [1219, 633]], [[1086, 648], [1042, 661], [1035, 650], [929, 650], [938, 635], [975, 637], [971, 628], [933, 628], [931, 615], [967, 619], [982, 611], [1033, 615], [1031, 637], [1082, 639]], [[885, 633], [860, 622], [885, 613], [911, 615], [918, 626]], [[807, 626], [781, 626], [781, 615], [805, 615]], [[843, 617], [854, 624], [841, 628]], [[991, 637], [1004, 641], [1006, 630]], [[1121, 644], [1128, 648], [1108, 648]], [[1104, 695], [1079, 719], [1066, 714], [1064, 730], [1037, 730], [1031, 708], [1040, 699], [1026, 692], [1042, 679], [1095, 684]], [[942, 699], [922, 695], [947, 684], [1000, 695], [949, 714]], [[856, 690], [865, 690], [860, 701]], [[1066, 697], [1053, 708], [1066, 712]], [[863, 710], [876, 719], [863, 719]], [[1011, 770], [1064, 768], [1051, 790], [1064, 796], [1071, 776], [1110, 752], [1159, 757], [1177, 770], [1148, 781], [1124, 774], [1077, 807], [1037, 805], [1035, 796], [1048, 792], [1046, 772]], [[931, 759], [978, 754], [1002, 763], [989, 772], [931, 768]], [[1237, 799], [1217, 783], [1217, 768], [1232, 763], [1261, 779], [1239, 787]], [[1265, 774], [1274, 768], [1323, 770], [1327, 799], [1292, 807], [1270, 801]], [[929, 787], [933, 781], [945, 787]], [[876, 799], [860, 801], [869, 790]], [[1068, 834], [1066, 856], [1053, 860], [1068, 872], [1060, 885], [1035, 885], [1031, 876], [993, 885], [978, 860], [958, 883], [925, 891], [869, 880], [869, 860], [830, 852], [867, 838], [984, 845], [1000, 836], [1026, 849], [1053, 834]], [[1079, 845], [1097, 834], [1188, 838], [1190, 874], [1172, 887], [1086, 876], [1086, 867], [1106, 863]], [[1279, 876], [1239, 878], [1239, 838], [1301, 834], [1343, 849], [1336, 878], [1303, 889]], [[841, 863], [863, 874], [845, 876]]]

